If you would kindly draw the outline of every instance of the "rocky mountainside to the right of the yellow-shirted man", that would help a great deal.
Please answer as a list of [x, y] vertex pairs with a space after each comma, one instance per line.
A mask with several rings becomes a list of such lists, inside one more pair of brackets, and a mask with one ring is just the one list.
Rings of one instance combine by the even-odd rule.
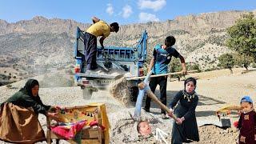
[[[186, 62], [198, 63], [201, 69], [216, 67], [218, 56], [230, 50], [225, 46], [226, 28], [233, 26], [246, 11], [223, 11], [187, 15], [166, 22], [147, 22], [122, 26], [121, 32], [113, 34], [111, 45], [129, 46], [135, 43], [142, 30], [149, 34], [148, 47], [162, 43], [167, 35], [176, 38], [176, 49], [186, 57]], [[253, 10], [256, 14], [256, 10]], [[118, 41], [114, 41], [118, 39]], [[125, 42], [122, 39], [126, 39]]]

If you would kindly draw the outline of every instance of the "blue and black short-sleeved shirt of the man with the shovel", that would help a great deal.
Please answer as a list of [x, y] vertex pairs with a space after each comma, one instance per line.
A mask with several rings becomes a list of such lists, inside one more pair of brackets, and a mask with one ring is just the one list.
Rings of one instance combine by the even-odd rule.
[[162, 45], [154, 47], [154, 66], [153, 74], [166, 74], [168, 73], [168, 64], [170, 63], [171, 57], [178, 58], [180, 54], [173, 47], [167, 47], [166, 50], [162, 49]]

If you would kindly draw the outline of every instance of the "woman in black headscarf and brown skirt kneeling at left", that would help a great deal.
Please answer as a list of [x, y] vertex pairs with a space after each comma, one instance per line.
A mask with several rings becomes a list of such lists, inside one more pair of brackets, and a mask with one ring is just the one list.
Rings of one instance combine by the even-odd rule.
[[39, 83], [29, 79], [26, 85], [3, 102], [0, 107], [0, 139], [5, 142], [34, 143], [46, 140], [38, 113], [57, 117], [50, 113], [50, 106], [42, 104], [38, 96]]

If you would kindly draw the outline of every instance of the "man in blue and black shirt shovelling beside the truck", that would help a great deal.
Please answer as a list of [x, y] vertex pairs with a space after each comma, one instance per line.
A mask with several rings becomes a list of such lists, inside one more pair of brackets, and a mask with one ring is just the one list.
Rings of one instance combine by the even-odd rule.
[[[170, 63], [171, 57], [180, 58], [182, 65], [182, 73], [186, 74], [185, 59], [181, 54], [178, 53], [172, 46], [174, 46], [176, 40], [173, 36], [168, 36], [165, 39], [165, 44], [154, 47], [153, 58], [150, 61], [150, 66], [148, 71], [152, 70], [153, 74], [167, 74], [168, 64]], [[167, 86], [167, 76], [150, 78], [150, 90], [154, 93], [156, 87], [160, 86], [160, 100], [166, 105], [166, 86]], [[146, 105], [144, 110], [150, 112], [150, 102], [151, 98], [146, 97]], [[162, 118], [166, 118], [166, 111], [161, 109]]]

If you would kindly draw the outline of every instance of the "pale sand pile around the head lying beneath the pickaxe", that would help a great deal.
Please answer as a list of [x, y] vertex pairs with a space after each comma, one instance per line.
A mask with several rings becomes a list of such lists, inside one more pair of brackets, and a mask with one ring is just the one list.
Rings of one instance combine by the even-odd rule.
[[142, 110], [142, 120], [147, 120], [150, 123], [152, 134], [142, 137], [138, 134], [138, 122], [130, 117], [134, 114], [134, 108], [120, 109], [118, 112], [108, 114], [110, 120], [110, 142], [111, 143], [154, 143], [157, 142], [154, 138], [156, 128], [159, 128], [169, 134], [166, 140], [170, 142], [170, 132], [172, 127], [172, 119], [162, 119], [159, 114], [160, 110], [152, 109], [152, 113], [146, 113]]

